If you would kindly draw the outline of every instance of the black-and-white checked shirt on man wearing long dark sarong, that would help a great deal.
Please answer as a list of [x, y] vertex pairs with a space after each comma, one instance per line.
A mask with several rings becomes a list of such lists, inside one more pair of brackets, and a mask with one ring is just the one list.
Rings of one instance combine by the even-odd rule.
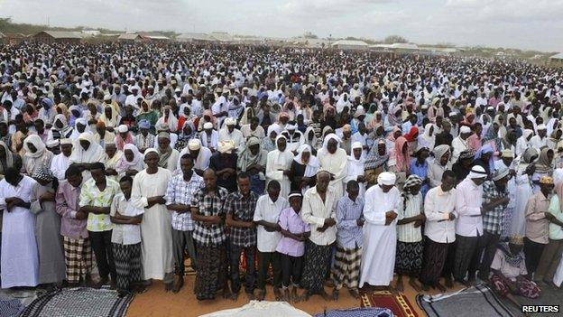
[[[196, 191], [191, 199], [191, 207], [197, 208], [201, 216], [225, 216], [225, 200], [228, 191], [217, 187], [214, 195], [209, 195], [207, 189]], [[193, 238], [203, 246], [217, 246], [226, 241], [225, 225], [212, 225], [202, 221], [194, 221]]]

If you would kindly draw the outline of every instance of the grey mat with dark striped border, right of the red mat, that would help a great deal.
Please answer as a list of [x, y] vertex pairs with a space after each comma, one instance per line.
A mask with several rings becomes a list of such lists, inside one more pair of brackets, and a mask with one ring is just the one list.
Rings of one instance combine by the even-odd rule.
[[418, 295], [417, 303], [429, 317], [514, 316], [486, 284], [449, 294]]

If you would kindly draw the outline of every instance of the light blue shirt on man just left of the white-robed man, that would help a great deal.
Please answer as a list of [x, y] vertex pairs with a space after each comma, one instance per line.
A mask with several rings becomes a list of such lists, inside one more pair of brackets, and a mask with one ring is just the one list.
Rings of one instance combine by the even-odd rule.
[[364, 199], [357, 197], [355, 201], [348, 195], [341, 197], [337, 204], [337, 244], [339, 247], [362, 247], [364, 242], [362, 227], [357, 225], [358, 219], [364, 219]]

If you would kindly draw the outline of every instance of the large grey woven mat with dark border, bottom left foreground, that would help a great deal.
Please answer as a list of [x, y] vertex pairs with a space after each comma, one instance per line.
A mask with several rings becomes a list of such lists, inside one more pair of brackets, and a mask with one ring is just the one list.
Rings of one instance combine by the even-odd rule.
[[42, 294], [22, 312], [22, 317], [123, 317], [133, 295], [123, 298], [109, 289], [65, 288]]

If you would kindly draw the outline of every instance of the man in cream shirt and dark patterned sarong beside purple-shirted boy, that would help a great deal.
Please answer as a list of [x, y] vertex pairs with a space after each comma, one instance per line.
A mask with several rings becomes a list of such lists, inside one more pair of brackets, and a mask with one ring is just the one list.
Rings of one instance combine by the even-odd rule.
[[[343, 150], [344, 151], [344, 150]], [[311, 235], [305, 247], [305, 267], [301, 278], [307, 290], [305, 300], [319, 294], [326, 301], [330, 297], [324, 284], [330, 267], [333, 243], [337, 239], [337, 202], [335, 190], [329, 186], [330, 173], [317, 172], [317, 185], [305, 191], [301, 219], [309, 224]]]

